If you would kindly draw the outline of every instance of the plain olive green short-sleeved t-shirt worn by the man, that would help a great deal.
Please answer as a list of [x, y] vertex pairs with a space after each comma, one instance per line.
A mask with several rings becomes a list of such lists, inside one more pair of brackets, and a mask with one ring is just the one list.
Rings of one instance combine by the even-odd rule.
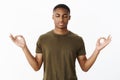
[[43, 80], [77, 80], [75, 61], [86, 51], [80, 36], [71, 31], [58, 35], [52, 30], [39, 37], [36, 53], [43, 55]]

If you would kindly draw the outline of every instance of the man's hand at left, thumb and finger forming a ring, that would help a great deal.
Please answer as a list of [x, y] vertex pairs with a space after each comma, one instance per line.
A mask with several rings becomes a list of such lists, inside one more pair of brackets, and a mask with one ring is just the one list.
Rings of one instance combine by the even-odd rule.
[[19, 47], [24, 48], [26, 46], [25, 39], [22, 35], [13, 36], [10, 34], [11, 40]]

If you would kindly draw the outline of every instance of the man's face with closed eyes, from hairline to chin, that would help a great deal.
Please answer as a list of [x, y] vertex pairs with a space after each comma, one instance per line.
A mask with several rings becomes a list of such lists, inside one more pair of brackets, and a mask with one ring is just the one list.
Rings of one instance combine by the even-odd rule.
[[69, 12], [64, 8], [57, 8], [53, 11], [53, 20], [55, 28], [67, 29], [68, 21], [70, 20]]

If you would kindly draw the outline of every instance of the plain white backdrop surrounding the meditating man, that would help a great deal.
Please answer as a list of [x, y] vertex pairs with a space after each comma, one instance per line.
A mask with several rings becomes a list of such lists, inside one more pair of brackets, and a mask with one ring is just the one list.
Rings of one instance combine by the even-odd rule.
[[43, 66], [35, 72], [9, 35], [23, 35], [35, 55], [38, 37], [54, 28], [52, 9], [58, 3], [70, 7], [68, 28], [83, 37], [87, 57], [99, 37], [112, 36], [88, 72], [76, 62], [78, 80], [120, 80], [119, 0], [0, 0], [0, 80], [42, 80]]

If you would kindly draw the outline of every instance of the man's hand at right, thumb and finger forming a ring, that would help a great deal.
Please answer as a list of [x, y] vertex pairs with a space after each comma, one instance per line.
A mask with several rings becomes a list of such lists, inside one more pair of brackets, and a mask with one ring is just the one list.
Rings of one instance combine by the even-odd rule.
[[96, 44], [96, 49], [98, 51], [102, 50], [104, 47], [106, 47], [109, 43], [111, 42], [111, 36], [109, 35], [107, 37], [107, 39], [105, 37], [100, 37], [97, 40], [97, 44]]

